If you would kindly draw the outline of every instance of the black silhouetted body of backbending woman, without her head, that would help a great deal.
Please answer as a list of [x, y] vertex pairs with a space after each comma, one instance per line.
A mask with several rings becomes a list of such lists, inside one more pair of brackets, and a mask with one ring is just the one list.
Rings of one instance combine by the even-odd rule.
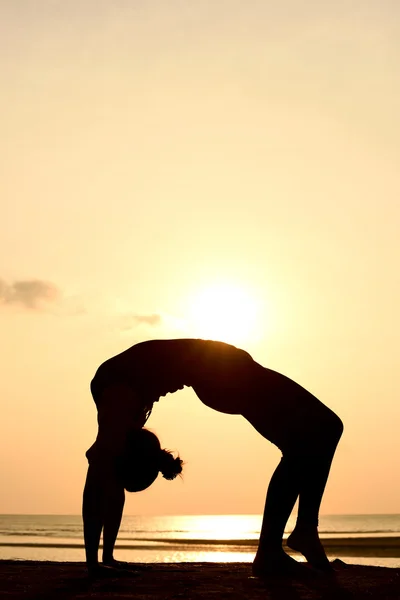
[[287, 544], [314, 567], [330, 564], [318, 537], [318, 515], [343, 425], [303, 387], [267, 369], [245, 352], [200, 339], [152, 340], [107, 360], [91, 383], [99, 433], [88, 450], [83, 499], [86, 558], [98, 570], [103, 529], [103, 563], [117, 565], [113, 549], [124, 506], [115, 458], [130, 431], [142, 428], [160, 396], [191, 386], [200, 400], [222, 413], [240, 414], [282, 451], [268, 487], [256, 575], [301, 568], [282, 548], [286, 522], [299, 497], [297, 523]]

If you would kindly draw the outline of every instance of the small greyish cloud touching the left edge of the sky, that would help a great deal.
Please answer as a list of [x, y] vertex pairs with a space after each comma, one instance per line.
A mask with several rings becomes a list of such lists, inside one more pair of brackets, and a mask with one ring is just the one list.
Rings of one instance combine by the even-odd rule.
[[60, 298], [56, 285], [40, 279], [22, 279], [6, 283], [0, 279], [0, 305], [21, 305], [30, 310], [41, 310], [43, 304]]

